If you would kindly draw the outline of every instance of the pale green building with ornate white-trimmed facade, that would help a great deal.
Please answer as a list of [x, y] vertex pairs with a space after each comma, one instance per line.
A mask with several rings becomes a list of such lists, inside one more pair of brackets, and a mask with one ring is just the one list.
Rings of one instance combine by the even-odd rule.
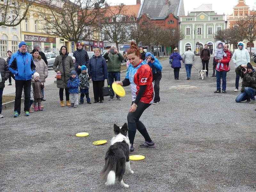
[[212, 4], [202, 4], [187, 16], [180, 16], [180, 30], [185, 35], [179, 44], [180, 53], [183, 54], [191, 47], [192, 52], [199, 55], [204, 44], [208, 44], [209, 49], [212, 47], [214, 50], [214, 34], [226, 28], [225, 15], [218, 15], [212, 11]]

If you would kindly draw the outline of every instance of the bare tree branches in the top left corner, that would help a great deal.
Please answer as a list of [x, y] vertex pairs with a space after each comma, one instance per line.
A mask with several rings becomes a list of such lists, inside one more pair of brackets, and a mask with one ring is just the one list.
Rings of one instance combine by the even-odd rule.
[[[36, 0], [5, 0], [0, 2], [0, 26], [14, 27], [21, 23], [27, 16], [28, 9]], [[12, 17], [10, 16], [12, 15]]]

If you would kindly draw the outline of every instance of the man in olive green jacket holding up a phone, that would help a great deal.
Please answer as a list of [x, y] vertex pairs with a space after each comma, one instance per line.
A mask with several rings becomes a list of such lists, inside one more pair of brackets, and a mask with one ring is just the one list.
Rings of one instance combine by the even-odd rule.
[[[110, 49], [114, 49], [113, 53], [110, 53]], [[115, 81], [120, 81], [121, 73], [121, 62], [124, 60], [124, 56], [118, 52], [114, 45], [110, 48], [103, 57], [108, 60], [108, 83], [112, 90], [112, 83]], [[109, 96], [108, 100], [113, 100], [115, 93], [112, 90], [112, 95]], [[119, 95], [116, 95], [117, 100], [121, 100]]]

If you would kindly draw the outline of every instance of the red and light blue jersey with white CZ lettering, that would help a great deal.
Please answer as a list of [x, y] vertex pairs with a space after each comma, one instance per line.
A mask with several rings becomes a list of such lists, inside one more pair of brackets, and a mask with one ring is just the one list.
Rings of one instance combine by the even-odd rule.
[[140, 90], [140, 85], [147, 85], [146, 90], [143, 93], [140, 102], [153, 103], [155, 92], [153, 86], [152, 70], [147, 63], [140, 61], [137, 67], [133, 67], [131, 64], [128, 66], [125, 76], [131, 83], [132, 101], [135, 101], [136, 96]]

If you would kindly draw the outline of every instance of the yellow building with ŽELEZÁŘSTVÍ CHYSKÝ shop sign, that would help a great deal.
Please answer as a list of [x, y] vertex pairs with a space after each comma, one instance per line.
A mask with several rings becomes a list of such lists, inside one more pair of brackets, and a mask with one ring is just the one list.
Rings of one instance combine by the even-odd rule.
[[[2, 1], [0, 2], [3, 3]], [[34, 44], [39, 44], [43, 52], [59, 53], [60, 47], [66, 45], [68, 52], [74, 52], [74, 42], [64, 39], [60, 42], [61, 37], [53, 37], [43, 33], [41, 30], [42, 22], [40, 21], [39, 11], [47, 9], [43, 4], [33, 3], [28, 10], [27, 17], [20, 25], [15, 27], [0, 27], [0, 57], [7, 57], [7, 51], [16, 52], [20, 41], [25, 41], [28, 45], [28, 51], [33, 50]], [[21, 15], [23, 14], [21, 10]], [[2, 15], [1, 15], [2, 16]], [[14, 15], [9, 13], [12, 18]]]

